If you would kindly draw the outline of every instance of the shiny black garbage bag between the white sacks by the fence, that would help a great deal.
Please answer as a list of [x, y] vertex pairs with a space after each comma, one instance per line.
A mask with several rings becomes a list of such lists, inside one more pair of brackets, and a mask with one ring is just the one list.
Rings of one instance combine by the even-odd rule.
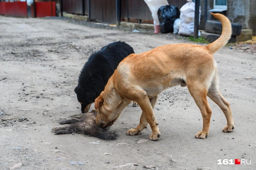
[[172, 33], [175, 19], [180, 18], [180, 10], [178, 7], [166, 5], [158, 9], [157, 15], [161, 33]]

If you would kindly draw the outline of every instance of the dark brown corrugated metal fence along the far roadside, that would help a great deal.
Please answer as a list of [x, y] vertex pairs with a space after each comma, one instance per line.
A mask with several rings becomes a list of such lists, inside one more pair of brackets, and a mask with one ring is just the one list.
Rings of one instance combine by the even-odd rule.
[[[60, 0], [58, 0], [60, 1]], [[117, 22], [116, 0], [62, 0], [63, 11], [71, 14], [88, 15], [91, 20], [115, 24]], [[179, 9], [187, 0], [167, 0]], [[89, 3], [88, 3], [89, 2]], [[84, 8], [84, 14], [83, 14]], [[90, 12], [90, 15], [89, 15]], [[124, 21], [151, 21], [152, 14], [144, 0], [121, 0], [121, 19]]]

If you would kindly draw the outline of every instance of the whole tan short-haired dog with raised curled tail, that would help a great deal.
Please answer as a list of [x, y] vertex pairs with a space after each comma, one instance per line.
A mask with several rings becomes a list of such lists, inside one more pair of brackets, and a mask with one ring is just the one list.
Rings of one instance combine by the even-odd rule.
[[157, 140], [160, 131], [153, 114], [157, 96], [166, 88], [181, 85], [188, 87], [203, 116], [203, 130], [196, 138], [206, 138], [209, 131], [212, 110], [206, 96], [217, 103], [226, 116], [228, 125], [222, 131], [232, 131], [230, 106], [219, 92], [217, 64], [212, 56], [228, 43], [232, 28], [225, 16], [212, 15], [221, 21], [223, 30], [220, 38], [208, 46], [169, 44], [124, 58], [95, 100], [97, 126], [111, 126], [130, 101], [135, 101], [142, 110], [140, 124], [126, 134], [137, 135], [149, 123], [153, 131], [149, 139]]

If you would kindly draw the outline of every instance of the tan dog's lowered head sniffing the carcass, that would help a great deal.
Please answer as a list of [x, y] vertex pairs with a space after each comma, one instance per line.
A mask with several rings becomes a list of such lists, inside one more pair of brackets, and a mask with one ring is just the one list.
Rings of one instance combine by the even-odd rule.
[[101, 128], [112, 126], [129, 103], [117, 93], [114, 86], [110, 88], [106, 86], [100, 96], [95, 99], [94, 107], [97, 111], [97, 126]]

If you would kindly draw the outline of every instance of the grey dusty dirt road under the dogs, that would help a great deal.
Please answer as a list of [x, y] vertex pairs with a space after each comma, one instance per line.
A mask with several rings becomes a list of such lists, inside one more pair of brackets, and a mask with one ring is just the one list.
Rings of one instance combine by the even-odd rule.
[[[226, 118], [208, 98], [209, 135], [195, 138], [203, 126], [201, 113], [187, 88], [175, 87], [160, 93], [154, 109], [161, 132], [158, 141], [147, 140], [150, 127], [137, 136], [125, 134], [139, 123], [141, 110], [132, 105], [111, 127], [119, 134], [117, 140], [55, 135], [52, 128], [62, 126], [60, 120], [80, 114], [74, 88], [92, 53], [118, 40], [130, 44], [135, 53], [191, 43], [170, 34], [96, 27], [67, 19], [0, 16], [1, 170], [122, 169], [119, 165], [129, 170], [256, 169], [256, 55], [230, 47], [214, 56], [220, 91], [235, 123], [231, 133], [222, 132]], [[251, 164], [217, 165], [219, 159], [251, 159]]]

